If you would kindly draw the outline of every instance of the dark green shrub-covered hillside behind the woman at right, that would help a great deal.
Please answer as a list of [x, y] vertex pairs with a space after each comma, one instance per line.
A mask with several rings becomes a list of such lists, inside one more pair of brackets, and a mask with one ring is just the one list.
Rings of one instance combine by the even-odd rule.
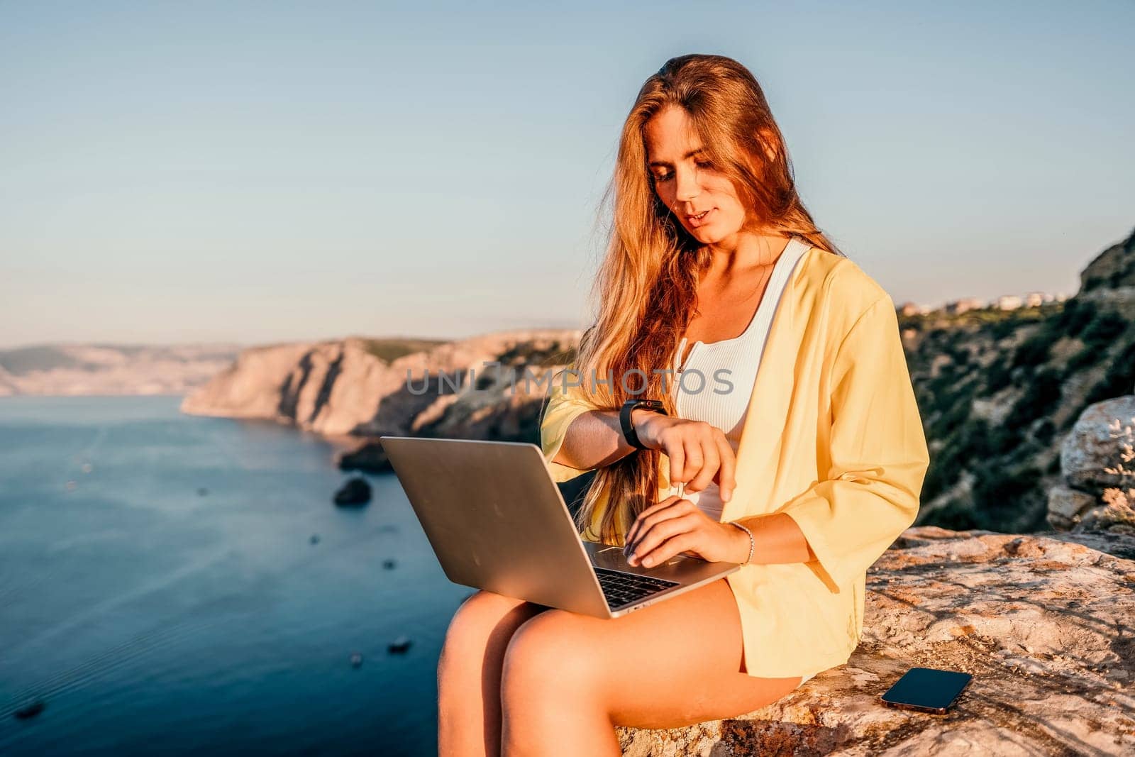
[[1060, 444], [1081, 412], [1135, 387], [1135, 235], [1063, 303], [900, 317], [931, 446], [919, 523], [1045, 528]]

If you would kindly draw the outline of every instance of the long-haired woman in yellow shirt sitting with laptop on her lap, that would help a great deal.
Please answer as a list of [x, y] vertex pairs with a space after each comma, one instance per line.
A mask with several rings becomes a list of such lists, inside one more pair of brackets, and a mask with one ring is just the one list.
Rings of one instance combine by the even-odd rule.
[[[894, 305], [816, 228], [753, 75], [669, 60], [613, 191], [599, 314], [550, 386], [545, 456], [557, 481], [596, 471], [580, 529], [631, 564], [743, 565], [614, 620], [474, 594], [438, 664], [443, 755], [617, 755], [616, 725], [776, 700], [847, 661], [866, 570], [918, 511], [928, 455]], [[695, 367], [725, 380], [667, 385]], [[665, 411], [631, 411], [638, 446], [633, 398]]]

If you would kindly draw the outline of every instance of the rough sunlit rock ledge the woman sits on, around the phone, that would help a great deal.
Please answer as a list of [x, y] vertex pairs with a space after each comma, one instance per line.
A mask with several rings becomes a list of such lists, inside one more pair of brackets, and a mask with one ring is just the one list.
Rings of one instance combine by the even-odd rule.
[[[868, 573], [846, 665], [741, 717], [619, 729], [623, 754], [1135, 754], [1132, 557], [1135, 537], [910, 529]], [[880, 704], [914, 666], [973, 681], [947, 715]]]

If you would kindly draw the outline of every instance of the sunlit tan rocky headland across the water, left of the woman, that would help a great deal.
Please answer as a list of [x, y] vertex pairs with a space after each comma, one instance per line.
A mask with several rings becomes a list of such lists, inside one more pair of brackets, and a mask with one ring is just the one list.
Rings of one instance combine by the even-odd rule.
[[[362, 338], [258, 347], [188, 395], [182, 410], [327, 435], [531, 440], [545, 373], [572, 360], [579, 336], [532, 330], [424, 347]], [[526, 368], [533, 379], [527, 384]]]

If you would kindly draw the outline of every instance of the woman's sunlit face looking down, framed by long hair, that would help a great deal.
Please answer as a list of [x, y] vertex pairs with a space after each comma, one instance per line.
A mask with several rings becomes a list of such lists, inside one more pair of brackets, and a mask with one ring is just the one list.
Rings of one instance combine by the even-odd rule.
[[669, 106], [655, 113], [644, 140], [655, 192], [693, 238], [714, 244], [740, 230], [745, 207], [737, 190], [699, 152], [703, 145], [683, 109]]

